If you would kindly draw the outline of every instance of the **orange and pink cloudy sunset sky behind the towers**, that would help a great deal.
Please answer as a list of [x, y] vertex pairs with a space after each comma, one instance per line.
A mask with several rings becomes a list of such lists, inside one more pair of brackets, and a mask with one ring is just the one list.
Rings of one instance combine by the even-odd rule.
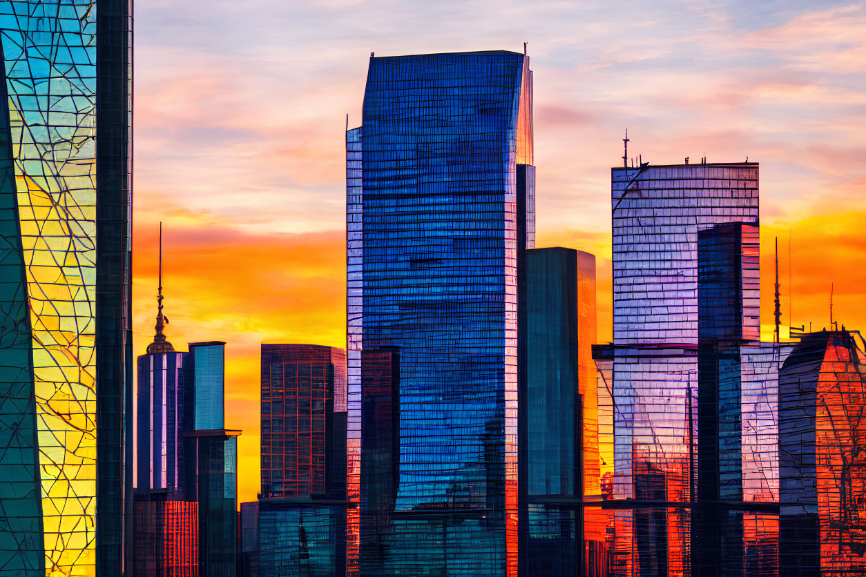
[[[259, 488], [259, 345], [346, 346], [344, 131], [378, 55], [522, 51], [537, 246], [595, 253], [611, 337], [611, 166], [760, 163], [762, 323], [866, 330], [866, 4], [149, 0], [135, 14], [135, 352], [228, 344], [240, 501]], [[789, 235], [792, 283], [788, 282]], [[793, 293], [793, 298], [790, 295]]]

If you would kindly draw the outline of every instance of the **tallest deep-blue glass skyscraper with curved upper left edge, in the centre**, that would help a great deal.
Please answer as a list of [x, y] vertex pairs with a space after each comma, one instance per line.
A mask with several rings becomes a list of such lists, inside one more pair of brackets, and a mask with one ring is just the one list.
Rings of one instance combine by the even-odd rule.
[[[371, 57], [346, 149], [348, 494], [359, 504], [349, 570], [514, 575], [518, 262], [534, 242], [529, 59]], [[384, 359], [370, 375], [396, 387], [374, 403], [399, 411], [393, 426], [374, 421], [396, 453], [374, 465], [397, 468], [388, 496], [365, 495], [361, 456], [361, 353], [379, 349], [398, 360], [397, 375]], [[361, 551], [359, 567], [371, 532], [378, 565]]]

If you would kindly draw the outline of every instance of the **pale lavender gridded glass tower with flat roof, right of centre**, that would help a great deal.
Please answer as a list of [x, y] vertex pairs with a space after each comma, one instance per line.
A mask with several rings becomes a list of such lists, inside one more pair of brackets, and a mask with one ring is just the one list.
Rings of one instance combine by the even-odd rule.
[[[758, 338], [757, 245], [743, 241], [757, 240], [758, 165], [615, 168], [612, 191], [611, 497], [642, 503], [612, 511], [611, 564], [626, 574], [679, 574], [691, 567], [690, 503], [701, 465], [699, 261], [705, 255], [705, 270], [718, 273], [705, 285], [705, 305], [730, 305], [703, 327], [709, 336]], [[726, 401], [739, 409], [739, 399]]]

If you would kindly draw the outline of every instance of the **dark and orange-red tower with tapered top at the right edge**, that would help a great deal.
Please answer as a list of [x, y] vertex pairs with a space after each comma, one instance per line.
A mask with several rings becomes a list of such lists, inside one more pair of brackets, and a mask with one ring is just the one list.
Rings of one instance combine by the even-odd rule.
[[779, 371], [780, 575], [866, 572], [866, 355], [859, 335], [805, 335]]

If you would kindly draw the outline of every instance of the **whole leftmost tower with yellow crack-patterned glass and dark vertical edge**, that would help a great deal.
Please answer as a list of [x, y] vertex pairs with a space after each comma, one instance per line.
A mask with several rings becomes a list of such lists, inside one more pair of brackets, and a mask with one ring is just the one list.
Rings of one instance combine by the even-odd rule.
[[0, 3], [0, 575], [130, 557], [131, 4]]

